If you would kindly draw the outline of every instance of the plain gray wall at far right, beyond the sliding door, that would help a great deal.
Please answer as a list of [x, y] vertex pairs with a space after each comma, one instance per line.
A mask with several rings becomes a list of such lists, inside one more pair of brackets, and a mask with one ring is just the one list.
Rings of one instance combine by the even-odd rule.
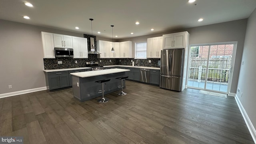
[[[254, 128], [256, 128], [256, 94], [254, 88], [256, 86], [256, 9], [248, 18], [246, 29], [246, 36], [244, 40], [244, 52], [242, 55], [242, 62], [238, 88], [240, 94], [236, 92], [240, 102], [242, 103], [247, 115], [249, 116]], [[241, 97], [241, 93], [243, 93]]]

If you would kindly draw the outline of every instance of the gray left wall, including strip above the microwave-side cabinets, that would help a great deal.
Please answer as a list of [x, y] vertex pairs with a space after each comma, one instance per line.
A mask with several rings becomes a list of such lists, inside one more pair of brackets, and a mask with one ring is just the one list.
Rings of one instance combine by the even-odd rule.
[[0, 20], [0, 94], [46, 86], [41, 31], [83, 37], [82, 33]]

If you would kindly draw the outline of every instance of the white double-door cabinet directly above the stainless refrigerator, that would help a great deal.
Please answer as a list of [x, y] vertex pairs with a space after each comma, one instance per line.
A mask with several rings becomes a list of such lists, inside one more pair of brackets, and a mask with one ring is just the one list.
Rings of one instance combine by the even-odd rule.
[[188, 32], [177, 32], [163, 35], [163, 49], [185, 48]]

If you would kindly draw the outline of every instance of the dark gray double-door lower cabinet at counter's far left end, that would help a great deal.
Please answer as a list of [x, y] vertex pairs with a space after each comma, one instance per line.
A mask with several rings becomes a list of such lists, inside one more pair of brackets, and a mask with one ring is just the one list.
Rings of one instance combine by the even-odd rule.
[[48, 84], [49, 90], [68, 87], [68, 71], [48, 72]]

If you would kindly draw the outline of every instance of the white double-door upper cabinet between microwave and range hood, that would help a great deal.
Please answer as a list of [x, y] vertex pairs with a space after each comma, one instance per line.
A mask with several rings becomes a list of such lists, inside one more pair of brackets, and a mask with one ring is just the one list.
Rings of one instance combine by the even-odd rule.
[[87, 38], [72, 36], [74, 58], [88, 58]]

